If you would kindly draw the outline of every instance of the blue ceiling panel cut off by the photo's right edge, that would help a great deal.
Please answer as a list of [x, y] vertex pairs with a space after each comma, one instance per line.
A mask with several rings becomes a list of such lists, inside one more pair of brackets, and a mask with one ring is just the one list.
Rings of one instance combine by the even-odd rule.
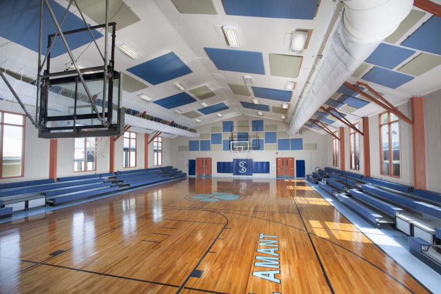
[[434, 15], [407, 37], [401, 45], [441, 55], [440, 28], [441, 18]]

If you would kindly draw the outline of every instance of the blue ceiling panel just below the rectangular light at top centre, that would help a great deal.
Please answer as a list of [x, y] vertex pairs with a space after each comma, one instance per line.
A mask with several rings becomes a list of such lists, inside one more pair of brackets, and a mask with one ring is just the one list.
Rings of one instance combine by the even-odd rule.
[[218, 70], [265, 74], [261, 52], [204, 48]]

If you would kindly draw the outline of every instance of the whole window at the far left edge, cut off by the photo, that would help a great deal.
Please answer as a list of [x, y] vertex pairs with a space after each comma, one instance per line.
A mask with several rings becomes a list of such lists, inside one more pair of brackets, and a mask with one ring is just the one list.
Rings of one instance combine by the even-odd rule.
[[25, 116], [0, 111], [0, 178], [24, 176]]

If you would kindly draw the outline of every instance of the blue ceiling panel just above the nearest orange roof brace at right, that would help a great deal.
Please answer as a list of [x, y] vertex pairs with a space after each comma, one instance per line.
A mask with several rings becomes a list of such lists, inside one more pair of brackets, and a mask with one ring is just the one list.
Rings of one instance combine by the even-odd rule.
[[368, 73], [366, 73], [362, 79], [395, 89], [408, 81], [413, 80], [414, 77], [375, 66]]

